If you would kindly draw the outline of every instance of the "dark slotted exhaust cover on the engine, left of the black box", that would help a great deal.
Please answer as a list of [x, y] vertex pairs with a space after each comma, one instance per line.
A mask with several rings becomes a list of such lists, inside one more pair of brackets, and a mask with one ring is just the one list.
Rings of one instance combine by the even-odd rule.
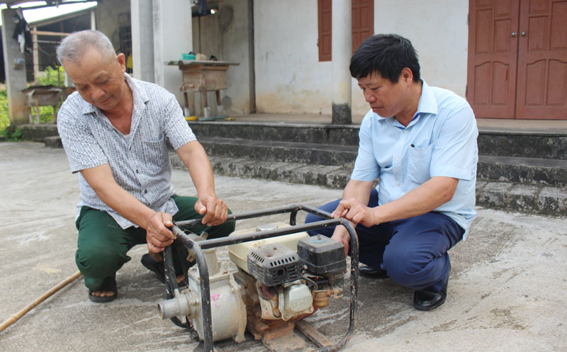
[[248, 271], [266, 286], [275, 286], [301, 277], [299, 257], [281, 244], [269, 244], [250, 249]]

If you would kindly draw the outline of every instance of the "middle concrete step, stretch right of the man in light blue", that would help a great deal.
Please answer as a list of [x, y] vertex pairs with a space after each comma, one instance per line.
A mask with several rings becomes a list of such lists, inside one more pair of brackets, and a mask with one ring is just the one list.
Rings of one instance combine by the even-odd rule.
[[479, 155], [477, 180], [567, 186], [567, 160]]

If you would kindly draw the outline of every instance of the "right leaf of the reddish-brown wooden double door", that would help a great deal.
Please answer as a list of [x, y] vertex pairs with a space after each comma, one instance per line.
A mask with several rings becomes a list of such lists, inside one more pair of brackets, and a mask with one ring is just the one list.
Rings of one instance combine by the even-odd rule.
[[520, 5], [516, 118], [567, 119], [567, 1]]

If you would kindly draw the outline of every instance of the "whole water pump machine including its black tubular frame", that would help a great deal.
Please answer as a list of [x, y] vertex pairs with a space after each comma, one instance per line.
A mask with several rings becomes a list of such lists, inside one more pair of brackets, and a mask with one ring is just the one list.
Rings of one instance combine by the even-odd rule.
[[[296, 225], [299, 211], [311, 212], [323, 219]], [[172, 261], [172, 246], [164, 251], [167, 300], [158, 304], [162, 319], [189, 328], [203, 341], [205, 351], [214, 351], [213, 343], [224, 339], [245, 341], [245, 330], [262, 340], [270, 351], [305, 351], [296, 341], [298, 329], [318, 346], [313, 351], [337, 351], [352, 336], [356, 323], [358, 242], [347, 220], [333, 219], [308, 205], [290, 205], [240, 215], [227, 221], [290, 213], [290, 222], [243, 229], [220, 239], [186, 233], [184, 228], [199, 225], [200, 220], [174, 223], [176, 242], [189, 253], [184, 263], [185, 288], [179, 288]], [[344, 337], [332, 344], [325, 336], [301, 319], [325, 309], [333, 298], [344, 295], [347, 260], [344, 246], [328, 237], [309, 237], [305, 231], [342, 225], [347, 228], [351, 247], [349, 327]], [[224, 269], [217, 248], [227, 246], [235, 269]], [[189, 263], [196, 266], [187, 268]]]

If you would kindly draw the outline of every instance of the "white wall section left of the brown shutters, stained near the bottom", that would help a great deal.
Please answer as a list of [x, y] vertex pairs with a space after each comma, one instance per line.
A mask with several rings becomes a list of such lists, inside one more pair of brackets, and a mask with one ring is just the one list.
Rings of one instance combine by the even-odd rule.
[[332, 67], [319, 62], [317, 1], [255, 1], [254, 34], [258, 112], [330, 114]]

